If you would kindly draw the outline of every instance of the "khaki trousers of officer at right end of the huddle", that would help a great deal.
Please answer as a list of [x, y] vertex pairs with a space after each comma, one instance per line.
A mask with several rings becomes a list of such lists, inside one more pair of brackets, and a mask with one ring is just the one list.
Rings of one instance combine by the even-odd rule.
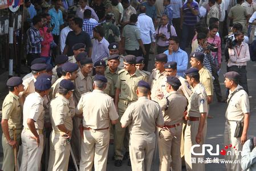
[[[196, 143], [196, 135], [198, 132], [199, 121], [190, 121], [188, 120], [184, 135], [184, 152], [185, 152], [185, 162], [186, 162], [186, 170], [196, 170], [196, 171], [204, 171], [205, 164], [198, 163], [198, 158], [204, 158], [204, 156], [194, 156], [191, 153], [191, 147]], [[205, 120], [205, 125], [202, 132], [202, 140], [200, 145], [205, 143], [205, 136], [207, 131], [207, 121]], [[202, 146], [200, 148], [194, 148], [195, 153], [202, 152]], [[196, 163], [192, 163], [192, 157], [196, 158]], [[204, 158], [205, 159], [205, 158]]]

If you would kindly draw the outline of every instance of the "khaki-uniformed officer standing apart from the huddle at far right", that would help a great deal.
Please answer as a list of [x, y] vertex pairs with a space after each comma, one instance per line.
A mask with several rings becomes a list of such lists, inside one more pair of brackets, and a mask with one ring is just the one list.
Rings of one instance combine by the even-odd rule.
[[[235, 146], [235, 150], [232, 150], [233, 155], [225, 155], [225, 160], [239, 161], [241, 160], [242, 145], [247, 139], [247, 131], [250, 122], [250, 103], [249, 97], [246, 91], [238, 84], [240, 75], [237, 72], [230, 71], [225, 75], [225, 86], [229, 88], [229, 96], [227, 97], [227, 109], [226, 109], [226, 122], [224, 132], [224, 144], [232, 144]], [[238, 125], [241, 133], [237, 136], [235, 133]], [[242, 170], [239, 163], [226, 164], [227, 170]]]

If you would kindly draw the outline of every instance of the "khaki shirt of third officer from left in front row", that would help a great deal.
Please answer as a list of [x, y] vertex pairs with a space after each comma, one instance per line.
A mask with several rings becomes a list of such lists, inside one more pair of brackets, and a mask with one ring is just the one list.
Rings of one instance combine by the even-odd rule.
[[52, 129], [54, 129], [54, 131], [60, 131], [57, 126], [62, 124], [64, 124], [69, 131], [72, 131], [73, 122], [70, 109], [68, 108], [68, 103], [68, 99], [62, 95], [59, 95], [55, 99], [51, 100], [50, 116]]

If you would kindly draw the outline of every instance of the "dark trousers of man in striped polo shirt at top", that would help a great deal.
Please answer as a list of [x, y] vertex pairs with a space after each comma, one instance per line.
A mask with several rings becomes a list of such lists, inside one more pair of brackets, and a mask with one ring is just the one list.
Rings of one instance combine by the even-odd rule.
[[194, 26], [182, 25], [182, 39], [180, 43], [180, 48], [185, 51], [187, 43], [191, 42], [194, 37]]

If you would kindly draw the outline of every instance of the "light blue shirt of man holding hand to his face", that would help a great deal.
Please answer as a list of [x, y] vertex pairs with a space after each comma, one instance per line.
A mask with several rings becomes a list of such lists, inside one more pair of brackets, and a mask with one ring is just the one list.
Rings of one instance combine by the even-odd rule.
[[177, 52], [172, 52], [172, 55], [169, 55], [169, 50], [166, 50], [164, 54], [167, 55], [168, 62], [177, 62], [177, 75], [184, 76], [184, 72], [188, 68], [188, 54], [178, 48]]

